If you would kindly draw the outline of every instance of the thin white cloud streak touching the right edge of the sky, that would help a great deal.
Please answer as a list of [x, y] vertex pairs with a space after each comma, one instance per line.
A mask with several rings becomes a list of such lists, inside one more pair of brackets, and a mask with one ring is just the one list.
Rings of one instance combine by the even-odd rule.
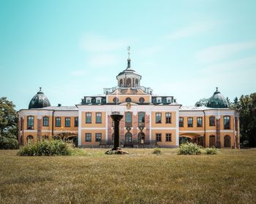
[[232, 44], [220, 44], [217, 46], [207, 47], [197, 52], [195, 58], [200, 63], [213, 63], [219, 60], [230, 58], [238, 52], [250, 50], [256, 47], [256, 42], [240, 42]]

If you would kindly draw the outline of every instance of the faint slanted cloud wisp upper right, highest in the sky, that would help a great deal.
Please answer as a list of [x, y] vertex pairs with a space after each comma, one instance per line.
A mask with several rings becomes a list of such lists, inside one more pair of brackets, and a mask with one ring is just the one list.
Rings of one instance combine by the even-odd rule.
[[178, 28], [176, 31], [173, 31], [171, 34], [167, 35], [165, 39], [183, 39], [190, 36], [204, 34], [215, 28], [217, 24], [218, 23], [216, 21], [192, 23], [183, 28]]

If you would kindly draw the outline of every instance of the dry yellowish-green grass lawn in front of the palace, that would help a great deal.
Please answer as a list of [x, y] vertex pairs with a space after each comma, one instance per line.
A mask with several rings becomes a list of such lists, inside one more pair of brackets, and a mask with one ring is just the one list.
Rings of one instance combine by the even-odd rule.
[[0, 203], [256, 203], [256, 149], [181, 156], [19, 157], [0, 150]]

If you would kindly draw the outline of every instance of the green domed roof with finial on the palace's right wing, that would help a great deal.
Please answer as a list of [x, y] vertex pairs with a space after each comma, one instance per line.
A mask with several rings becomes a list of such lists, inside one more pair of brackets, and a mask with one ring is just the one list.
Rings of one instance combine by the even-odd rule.
[[218, 91], [217, 87], [214, 95], [209, 98], [206, 106], [209, 108], [228, 108], [227, 98]]

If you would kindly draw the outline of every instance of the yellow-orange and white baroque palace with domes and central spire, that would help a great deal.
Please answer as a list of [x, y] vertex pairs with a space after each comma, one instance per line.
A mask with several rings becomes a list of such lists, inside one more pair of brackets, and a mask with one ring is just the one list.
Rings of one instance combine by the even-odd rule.
[[217, 89], [206, 106], [182, 106], [171, 95], [154, 95], [140, 85], [141, 76], [131, 67], [116, 76], [118, 85], [102, 95], [84, 96], [75, 106], [51, 106], [40, 88], [29, 109], [19, 115], [19, 144], [42, 138], [78, 138], [78, 146], [113, 145], [113, 121], [119, 112], [121, 146], [176, 147], [181, 138], [201, 146], [239, 148], [239, 114], [229, 109]]

